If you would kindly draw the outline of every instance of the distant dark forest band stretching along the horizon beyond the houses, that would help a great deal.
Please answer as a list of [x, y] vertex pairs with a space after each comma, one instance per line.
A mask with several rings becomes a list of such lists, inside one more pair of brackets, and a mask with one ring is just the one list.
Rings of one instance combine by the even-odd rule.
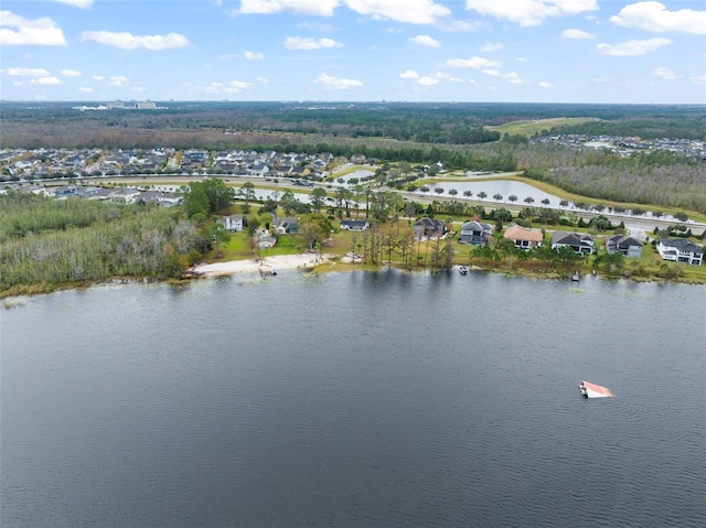
[[[160, 104], [161, 105], [161, 104]], [[395, 139], [424, 144], [498, 141], [485, 127], [515, 120], [590, 117], [598, 121], [545, 133], [616, 134], [641, 138], [706, 139], [706, 108], [694, 106], [512, 105], [512, 104], [338, 104], [313, 107], [276, 103], [172, 103], [159, 110], [78, 111], [68, 104], [3, 103], [4, 148], [174, 148], [222, 149], [253, 142], [256, 133], [307, 143], [342, 138]], [[224, 137], [228, 134], [229, 137]], [[256, 140], [257, 142], [257, 140]]]

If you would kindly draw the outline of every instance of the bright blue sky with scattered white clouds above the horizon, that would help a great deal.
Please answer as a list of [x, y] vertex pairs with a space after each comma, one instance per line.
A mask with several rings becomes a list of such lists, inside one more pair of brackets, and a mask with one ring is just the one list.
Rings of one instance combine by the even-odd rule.
[[6, 100], [706, 104], [706, 1], [3, 0]]

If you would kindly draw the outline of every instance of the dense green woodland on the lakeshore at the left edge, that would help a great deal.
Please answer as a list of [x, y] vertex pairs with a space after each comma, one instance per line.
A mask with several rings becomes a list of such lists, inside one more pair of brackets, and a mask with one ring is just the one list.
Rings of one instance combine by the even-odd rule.
[[210, 247], [178, 209], [0, 197], [0, 291], [109, 277], [180, 277]]

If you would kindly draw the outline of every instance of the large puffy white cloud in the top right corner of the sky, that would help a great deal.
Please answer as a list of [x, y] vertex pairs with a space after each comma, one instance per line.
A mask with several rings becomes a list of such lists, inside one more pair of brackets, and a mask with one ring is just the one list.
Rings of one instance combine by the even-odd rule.
[[655, 33], [675, 31], [706, 34], [706, 11], [694, 11], [693, 9], [667, 11], [661, 2], [632, 3], [622, 8], [618, 14], [608, 20], [624, 28], [638, 28]]

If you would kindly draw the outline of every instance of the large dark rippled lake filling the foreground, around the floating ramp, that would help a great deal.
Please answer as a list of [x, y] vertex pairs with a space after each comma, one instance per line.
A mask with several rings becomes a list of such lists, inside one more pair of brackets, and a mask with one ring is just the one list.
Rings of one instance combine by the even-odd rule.
[[395, 270], [33, 298], [0, 313], [1, 525], [704, 526], [704, 306]]

